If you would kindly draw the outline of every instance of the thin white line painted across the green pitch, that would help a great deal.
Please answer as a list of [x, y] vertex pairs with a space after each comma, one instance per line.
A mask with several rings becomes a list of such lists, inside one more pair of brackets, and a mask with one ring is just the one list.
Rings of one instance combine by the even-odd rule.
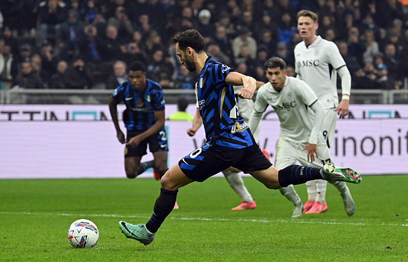
[[[143, 217], [143, 216], [123, 216], [123, 215], [116, 215], [116, 214], [67, 214], [67, 213], [35, 213], [35, 212], [0, 212], [0, 214], [4, 215], [36, 215], [36, 216], [81, 216], [81, 217], [111, 217], [111, 218], [141, 218], [141, 219], [149, 219], [150, 217]], [[325, 224], [325, 225], [355, 225], [355, 226], [364, 226], [367, 225], [365, 223], [345, 223], [345, 222], [330, 222], [330, 221], [303, 221], [299, 219], [275, 219], [275, 220], [267, 220], [267, 219], [229, 219], [229, 218], [200, 218], [200, 217], [168, 217], [167, 219], [179, 219], [179, 220], [198, 220], [198, 221], [223, 221], [223, 222], [254, 222], [254, 223], [296, 223], [296, 224]], [[367, 219], [364, 219], [367, 221]], [[380, 224], [374, 224], [377, 226], [408, 226], [408, 224], [386, 224], [384, 222]]]

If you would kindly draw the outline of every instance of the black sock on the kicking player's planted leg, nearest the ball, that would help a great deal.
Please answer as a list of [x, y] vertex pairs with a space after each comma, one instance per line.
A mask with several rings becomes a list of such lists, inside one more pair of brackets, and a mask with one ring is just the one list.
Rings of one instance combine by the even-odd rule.
[[162, 188], [160, 189], [160, 196], [156, 199], [153, 215], [151, 215], [150, 220], [146, 223], [147, 230], [152, 233], [159, 230], [159, 227], [173, 210], [177, 192], [179, 192], [179, 190], [170, 191]]

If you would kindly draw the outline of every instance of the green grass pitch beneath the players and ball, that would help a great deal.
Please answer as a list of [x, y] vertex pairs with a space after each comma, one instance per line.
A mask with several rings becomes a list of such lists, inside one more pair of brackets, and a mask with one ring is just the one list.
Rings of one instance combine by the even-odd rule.
[[[154, 179], [0, 180], [2, 261], [408, 261], [408, 175], [364, 176], [348, 184], [356, 211], [327, 186], [328, 211], [291, 219], [292, 204], [252, 177], [257, 208], [231, 211], [239, 197], [224, 178], [180, 189], [148, 246], [126, 239], [118, 221], [146, 223], [159, 195]], [[304, 185], [295, 186], [303, 203]], [[93, 221], [99, 242], [74, 249], [67, 229]]]

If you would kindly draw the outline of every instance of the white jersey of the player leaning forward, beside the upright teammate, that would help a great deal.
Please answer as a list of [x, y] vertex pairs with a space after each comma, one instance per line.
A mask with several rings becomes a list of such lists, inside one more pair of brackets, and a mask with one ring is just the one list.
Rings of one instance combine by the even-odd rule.
[[[288, 141], [308, 143], [312, 132], [314, 119], [308, 113], [307, 107], [317, 101], [313, 90], [303, 81], [286, 76], [281, 92], [273, 89], [270, 82], [263, 85], [257, 94], [254, 110], [265, 112], [268, 105], [275, 110], [281, 122], [280, 137]], [[319, 136], [321, 143], [322, 137]]]

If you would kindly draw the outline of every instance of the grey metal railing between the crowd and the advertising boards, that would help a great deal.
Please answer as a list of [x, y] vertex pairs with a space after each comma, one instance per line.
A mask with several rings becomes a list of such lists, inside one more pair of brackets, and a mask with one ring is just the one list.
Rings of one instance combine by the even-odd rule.
[[[194, 90], [164, 89], [163, 93], [169, 104], [176, 103], [180, 95], [195, 103]], [[3, 89], [0, 104], [107, 104], [111, 94], [112, 90], [101, 89]], [[408, 90], [352, 89], [350, 103], [407, 104]]]

